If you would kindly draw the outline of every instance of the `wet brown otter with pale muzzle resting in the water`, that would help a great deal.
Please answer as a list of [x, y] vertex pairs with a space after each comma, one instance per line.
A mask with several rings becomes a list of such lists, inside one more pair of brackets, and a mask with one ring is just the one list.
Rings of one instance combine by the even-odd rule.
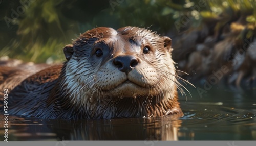
[[[171, 44], [169, 37], [144, 28], [89, 30], [63, 48], [63, 65], [44, 66], [10, 87], [8, 113], [62, 119], [182, 113]], [[7, 88], [4, 81], [1, 89]]]

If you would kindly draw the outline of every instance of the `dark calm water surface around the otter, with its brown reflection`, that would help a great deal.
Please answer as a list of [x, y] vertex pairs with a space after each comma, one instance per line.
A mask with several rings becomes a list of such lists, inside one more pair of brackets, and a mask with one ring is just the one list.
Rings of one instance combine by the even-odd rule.
[[[202, 85], [196, 85], [202, 89]], [[60, 140], [256, 140], [256, 90], [215, 85], [199, 95], [186, 86], [182, 115], [108, 120], [59, 120], [9, 116], [9, 141]], [[0, 117], [0, 133], [4, 119]], [[3, 136], [0, 136], [3, 141]]]

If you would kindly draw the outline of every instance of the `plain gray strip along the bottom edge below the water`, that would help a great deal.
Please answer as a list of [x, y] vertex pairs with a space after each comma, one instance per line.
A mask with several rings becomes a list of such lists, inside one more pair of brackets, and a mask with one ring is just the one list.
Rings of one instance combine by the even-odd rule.
[[27, 146], [27, 145], [52, 145], [52, 146], [73, 146], [73, 145], [183, 145], [183, 146], [255, 146], [256, 141], [33, 141], [33, 142], [0, 142], [0, 145], [6, 146]]

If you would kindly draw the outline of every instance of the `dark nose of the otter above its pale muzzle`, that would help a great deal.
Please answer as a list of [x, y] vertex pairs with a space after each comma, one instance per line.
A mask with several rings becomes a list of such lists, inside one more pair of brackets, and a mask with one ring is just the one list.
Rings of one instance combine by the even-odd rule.
[[125, 55], [118, 56], [113, 60], [113, 64], [122, 72], [128, 74], [138, 65], [138, 60], [135, 56]]

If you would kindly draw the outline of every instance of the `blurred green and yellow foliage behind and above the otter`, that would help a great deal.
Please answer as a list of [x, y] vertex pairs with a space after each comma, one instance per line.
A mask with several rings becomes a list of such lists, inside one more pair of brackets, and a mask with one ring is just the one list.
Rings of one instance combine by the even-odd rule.
[[[199, 12], [192, 9], [201, 2], [207, 5], [200, 7]], [[20, 11], [21, 8], [24, 11]], [[255, 26], [254, 8], [254, 0], [3, 1], [0, 4], [0, 56], [34, 62], [63, 60], [63, 46], [80, 33], [99, 26], [150, 27], [162, 35], [176, 35], [180, 30], [175, 22], [184, 17], [189, 16], [189, 25], [183, 28], [187, 29], [199, 27], [202, 20], [217, 18], [222, 13], [238, 12], [249, 13], [246, 20]]]

